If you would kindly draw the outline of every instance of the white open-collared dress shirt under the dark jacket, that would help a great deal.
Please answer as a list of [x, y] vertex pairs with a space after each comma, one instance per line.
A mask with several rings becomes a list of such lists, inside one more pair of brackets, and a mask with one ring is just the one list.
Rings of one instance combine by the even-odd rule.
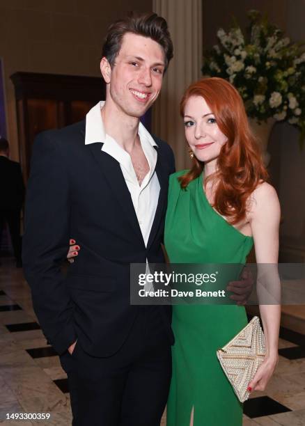
[[154, 146], [157, 146], [153, 137], [146, 128], [139, 124], [139, 139], [144, 155], [148, 161], [149, 172], [143, 179], [141, 186], [139, 185], [132, 159], [128, 152], [118, 145], [118, 143], [109, 134], [105, 132], [104, 123], [102, 120], [101, 109], [104, 102], [100, 101], [86, 115], [86, 135], [85, 144], [102, 142], [102, 151], [114, 157], [120, 164], [123, 177], [127, 184], [132, 197], [134, 211], [139, 221], [142, 236], [145, 245], [147, 246], [150, 230], [153, 226], [155, 212], [159, 198], [160, 185], [155, 172], [157, 163], [157, 152]]

